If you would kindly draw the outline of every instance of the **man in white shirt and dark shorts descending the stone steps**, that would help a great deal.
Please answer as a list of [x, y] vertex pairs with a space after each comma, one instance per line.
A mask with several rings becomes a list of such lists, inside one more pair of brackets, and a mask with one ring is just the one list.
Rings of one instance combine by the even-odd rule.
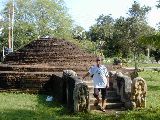
[[101, 91], [102, 95], [102, 106], [101, 110], [105, 112], [104, 102], [105, 102], [105, 96], [106, 96], [106, 88], [109, 87], [109, 81], [108, 81], [108, 71], [107, 68], [104, 65], [101, 65], [102, 59], [100, 57], [96, 58], [96, 65], [93, 65], [90, 67], [87, 74], [85, 74], [82, 78], [84, 79], [88, 75], [90, 75], [93, 79], [94, 84], [94, 97], [97, 99], [97, 103], [95, 105], [98, 105], [100, 102], [99, 98], [99, 92]]

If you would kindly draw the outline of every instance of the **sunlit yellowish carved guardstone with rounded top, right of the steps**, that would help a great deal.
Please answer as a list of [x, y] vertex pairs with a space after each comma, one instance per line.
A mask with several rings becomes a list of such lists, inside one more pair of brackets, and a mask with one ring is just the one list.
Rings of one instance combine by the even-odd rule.
[[146, 107], [147, 84], [143, 78], [137, 77], [133, 80], [131, 94], [133, 108]]

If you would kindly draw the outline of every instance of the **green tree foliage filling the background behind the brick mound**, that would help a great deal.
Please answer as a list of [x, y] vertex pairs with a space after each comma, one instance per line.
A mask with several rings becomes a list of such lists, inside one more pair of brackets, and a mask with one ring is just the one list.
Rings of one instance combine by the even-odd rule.
[[[157, 7], [160, 8], [160, 1]], [[7, 46], [9, 8], [11, 0], [1, 12], [0, 49]], [[41, 36], [54, 36], [76, 39], [78, 42], [73, 42], [88, 51], [103, 52], [106, 57], [133, 57], [133, 54], [144, 54], [148, 46], [159, 48], [159, 33], [146, 20], [150, 10], [149, 6], [134, 2], [127, 17], [102, 14], [89, 31], [85, 31], [73, 25], [63, 0], [15, 0], [14, 47], [17, 49]]]

